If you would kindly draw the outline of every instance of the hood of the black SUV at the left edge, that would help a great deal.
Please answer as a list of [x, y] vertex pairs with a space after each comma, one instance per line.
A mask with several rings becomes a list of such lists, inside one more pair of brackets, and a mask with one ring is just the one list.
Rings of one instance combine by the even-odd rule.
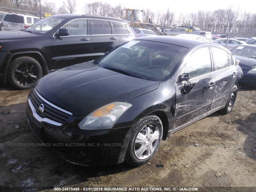
[[0, 40], [15, 40], [15, 38], [38, 37], [39, 35], [19, 30], [1, 31]]

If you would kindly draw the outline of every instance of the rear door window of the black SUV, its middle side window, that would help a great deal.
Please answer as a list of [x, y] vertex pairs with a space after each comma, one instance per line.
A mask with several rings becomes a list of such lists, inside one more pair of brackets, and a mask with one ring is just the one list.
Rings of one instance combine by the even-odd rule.
[[111, 25], [105, 20], [92, 20], [92, 30], [94, 35], [111, 35]]

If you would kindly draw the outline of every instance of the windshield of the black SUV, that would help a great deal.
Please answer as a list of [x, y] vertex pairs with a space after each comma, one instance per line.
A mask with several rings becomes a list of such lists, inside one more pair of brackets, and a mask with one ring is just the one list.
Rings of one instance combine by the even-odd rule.
[[60, 17], [46, 17], [35, 24], [30, 25], [24, 31], [31, 32], [34, 34], [45, 34], [46, 32], [52, 30], [58, 24], [67, 20], [67, 18]]

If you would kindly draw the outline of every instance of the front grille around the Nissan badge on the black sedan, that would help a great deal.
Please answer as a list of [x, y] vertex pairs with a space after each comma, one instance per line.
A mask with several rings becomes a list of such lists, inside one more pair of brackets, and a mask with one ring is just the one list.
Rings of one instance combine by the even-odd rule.
[[[64, 124], [64, 122], [72, 116], [71, 112], [68, 112], [44, 99], [35, 89], [32, 91], [29, 98], [36, 109], [36, 113], [42, 118], [48, 118], [54, 122]], [[40, 104], [44, 104], [44, 112], [39, 111]]]

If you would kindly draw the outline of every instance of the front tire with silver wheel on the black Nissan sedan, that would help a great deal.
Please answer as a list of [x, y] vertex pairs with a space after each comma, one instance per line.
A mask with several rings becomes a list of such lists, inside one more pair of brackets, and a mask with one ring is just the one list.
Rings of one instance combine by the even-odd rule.
[[146, 116], [136, 125], [126, 152], [125, 161], [133, 166], [148, 162], [155, 154], [163, 136], [163, 125], [157, 116]]

